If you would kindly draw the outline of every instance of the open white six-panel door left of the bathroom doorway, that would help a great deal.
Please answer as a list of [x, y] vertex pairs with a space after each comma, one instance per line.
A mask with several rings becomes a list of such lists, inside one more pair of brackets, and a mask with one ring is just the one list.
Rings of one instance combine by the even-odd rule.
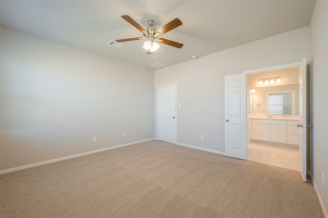
[[224, 77], [224, 154], [247, 160], [246, 75]]

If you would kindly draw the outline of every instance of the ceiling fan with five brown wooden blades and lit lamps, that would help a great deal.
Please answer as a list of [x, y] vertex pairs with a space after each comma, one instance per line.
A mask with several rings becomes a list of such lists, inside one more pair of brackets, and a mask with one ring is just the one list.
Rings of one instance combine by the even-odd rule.
[[157, 29], [153, 28], [153, 25], [155, 25], [155, 21], [152, 19], [147, 21], [149, 27], [144, 29], [135, 20], [133, 20], [130, 16], [123, 15], [121, 17], [123, 19], [125, 19], [126, 21], [128, 21], [129, 23], [131, 23], [131, 25], [133, 27], [137, 28], [142, 34], [144, 34], [144, 37], [115, 40], [117, 42], [126, 42], [126, 41], [147, 39], [147, 41], [145, 41], [145, 43], [144, 43], [144, 46], [142, 46], [147, 51], [147, 55], [151, 55], [151, 54], [153, 54], [153, 52], [155, 52], [159, 49], [159, 44], [157, 44], [156, 41], [163, 43], [163, 44], [171, 45], [173, 47], [177, 47], [178, 49], [180, 49], [183, 46], [183, 44], [181, 44], [179, 42], [171, 41], [171, 40], [164, 39], [164, 38], [158, 38], [160, 35], [163, 35], [169, 31], [181, 26], [182, 22], [178, 18], [175, 18], [174, 20], [172, 20], [171, 22], [167, 23], [166, 25], [164, 25], [163, 27], [161, 27], [157, 30]]

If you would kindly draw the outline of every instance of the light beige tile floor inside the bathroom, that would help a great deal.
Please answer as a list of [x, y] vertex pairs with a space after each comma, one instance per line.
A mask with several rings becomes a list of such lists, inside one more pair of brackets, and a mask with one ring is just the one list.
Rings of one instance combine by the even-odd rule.
[[247, 150], [248, 160], [299, 171], [298, 149], [251, 142]]

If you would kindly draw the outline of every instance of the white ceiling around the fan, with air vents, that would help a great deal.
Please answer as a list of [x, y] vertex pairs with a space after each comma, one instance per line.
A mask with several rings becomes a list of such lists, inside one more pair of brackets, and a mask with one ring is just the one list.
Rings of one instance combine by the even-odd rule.
[[[315, 1], [1, 1], [1, 25], [135, 65], [156, 69], [310, 25]], [[152, 55], [141, 37], [121, 18], [129, 15], [142, 27], [153, 19], [159, 29], [174, 18], [182, 26], [163, 34], [181, 49], [160, 44]]]

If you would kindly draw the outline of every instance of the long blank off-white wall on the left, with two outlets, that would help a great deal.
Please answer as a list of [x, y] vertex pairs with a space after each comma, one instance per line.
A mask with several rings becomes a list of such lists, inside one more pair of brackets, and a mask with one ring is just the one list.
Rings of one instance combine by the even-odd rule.
[[153, 96], [152, 70], [1, 27], [1, 169], [153, 138]]

